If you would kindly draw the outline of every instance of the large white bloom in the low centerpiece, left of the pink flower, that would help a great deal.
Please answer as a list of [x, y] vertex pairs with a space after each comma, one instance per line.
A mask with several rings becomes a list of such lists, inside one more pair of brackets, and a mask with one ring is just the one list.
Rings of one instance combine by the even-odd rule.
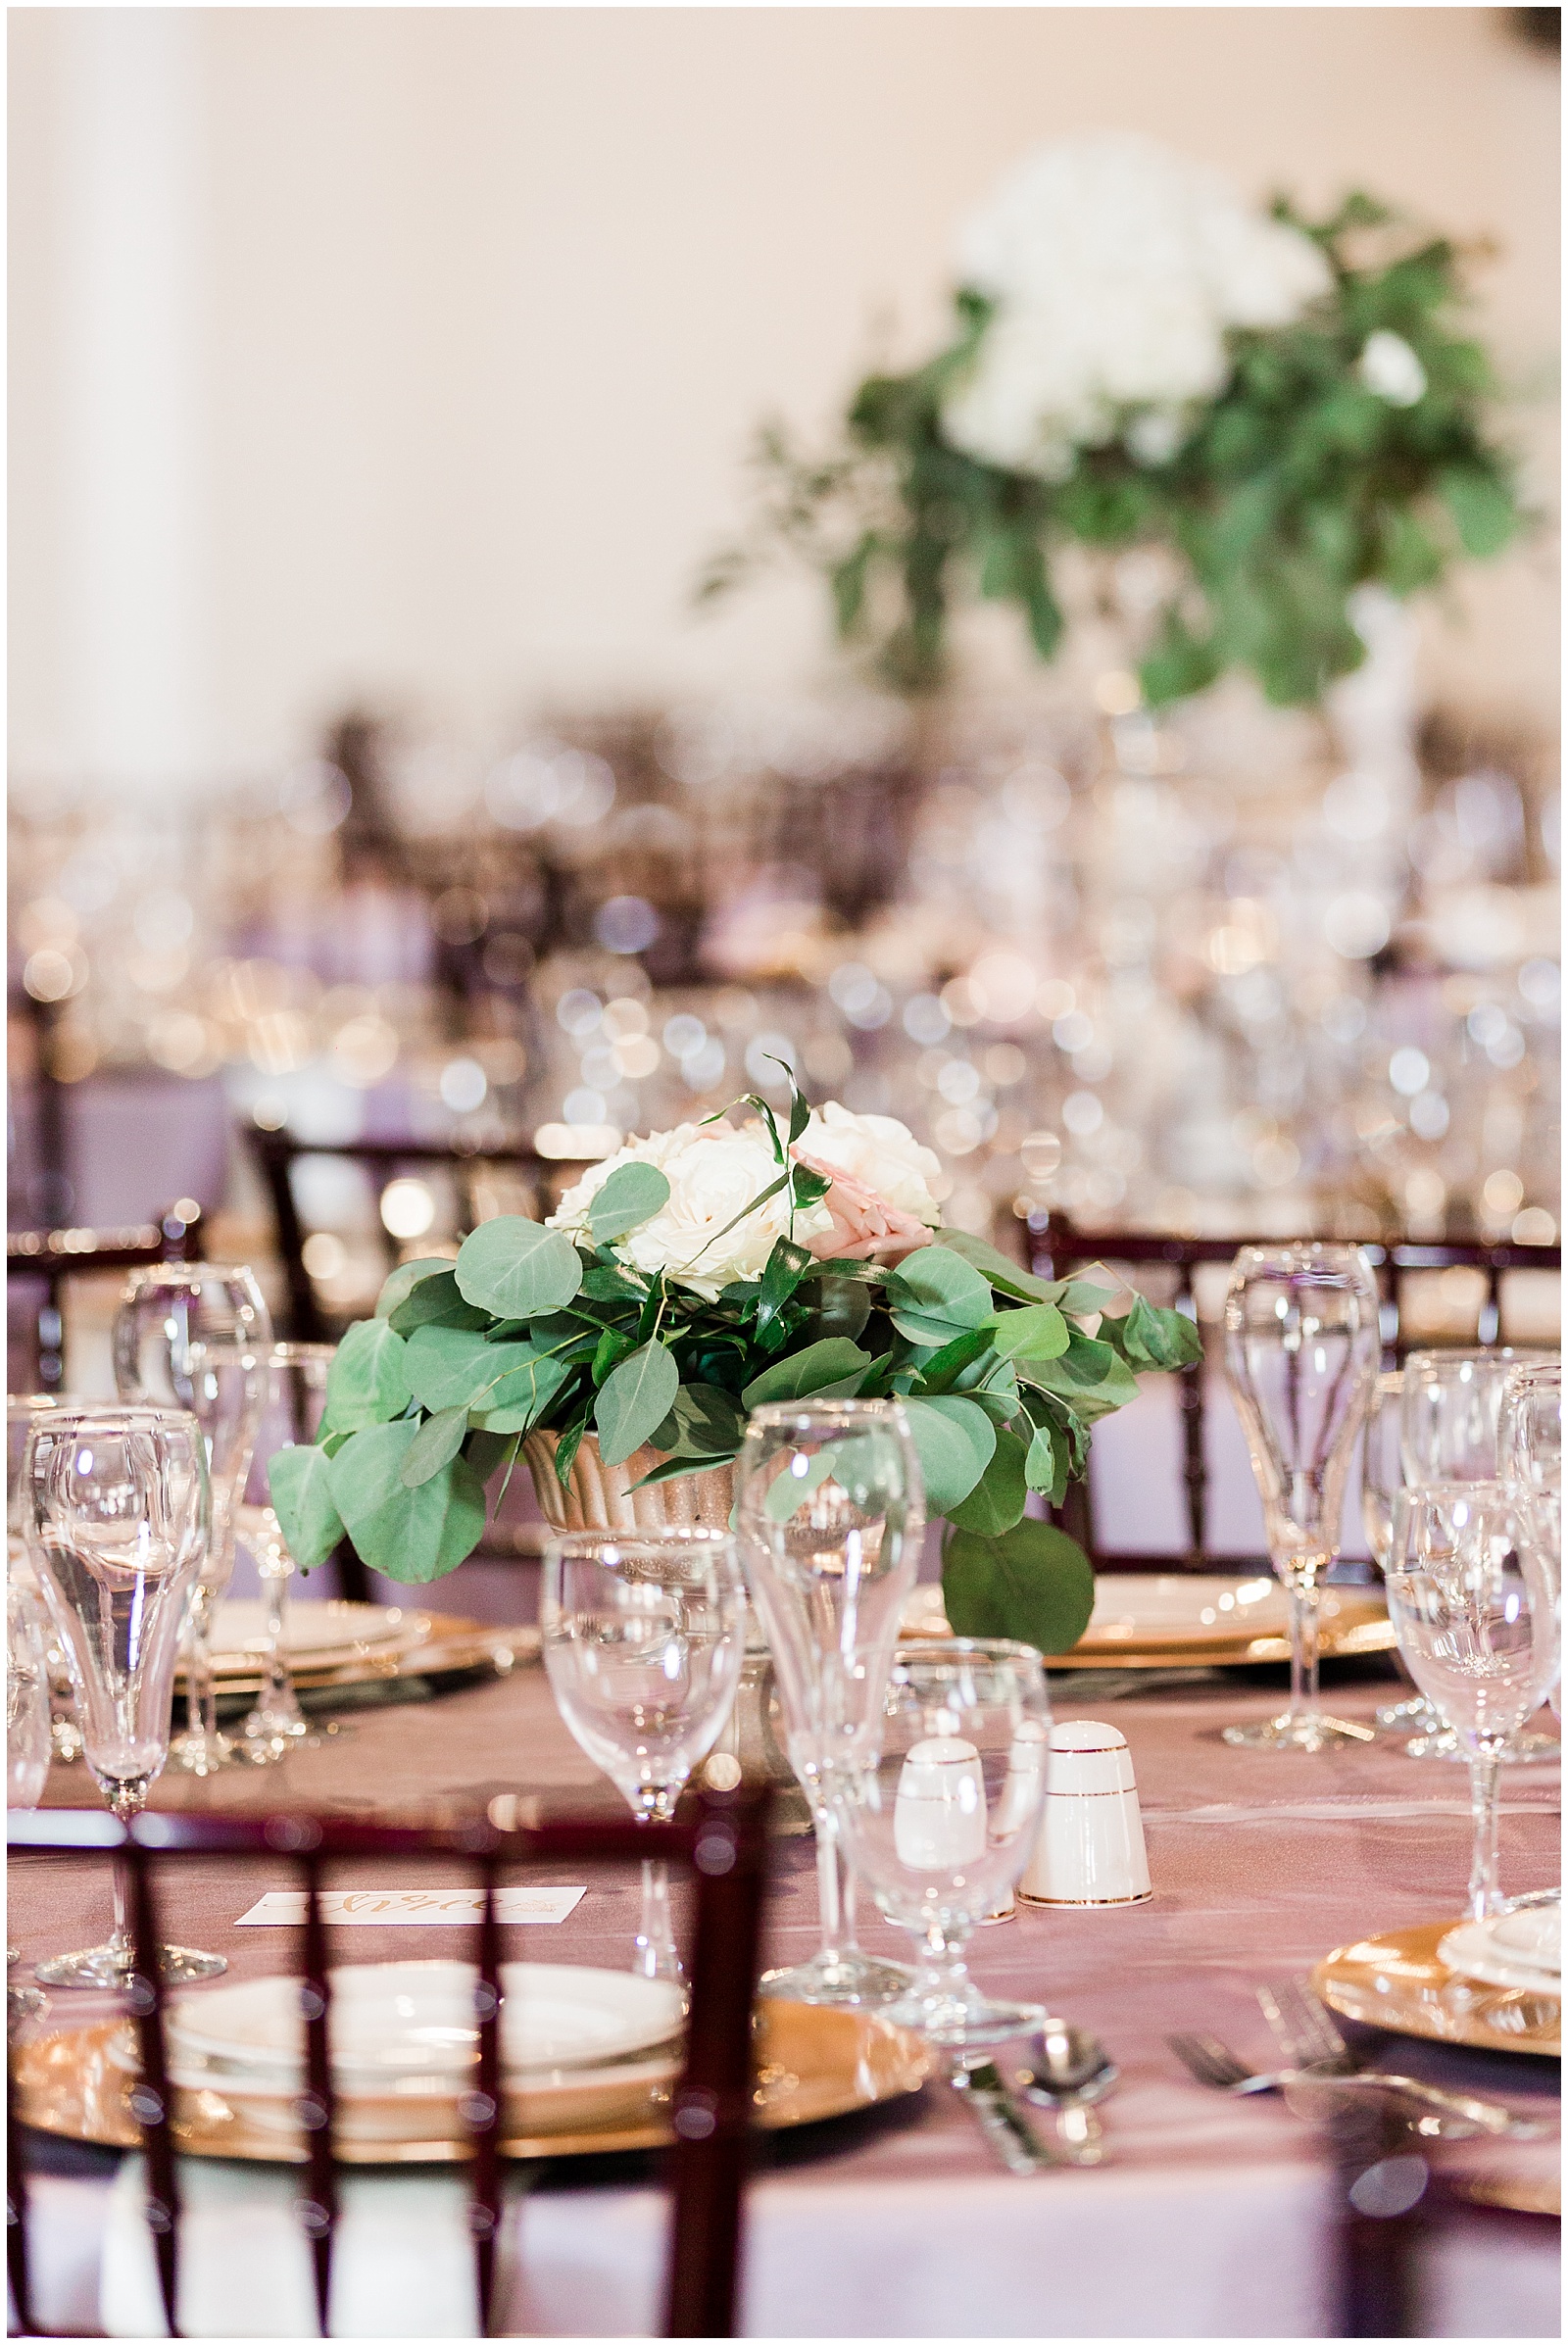
[[[563, 1196], [548, 1226], [586, 1236], [593, 1196], [628, 1163], [656, 1165], [670, 1184], [659, 1212], [616, 1241], [616, 1252], [647, 1276], [666, 1271], [677, 1285], [713, 1301], [731, 1278], [759, 1278], [773, 1243], [790, 1236], [785, 1189], [745, 1212], [778, 1180], [778, 1158], [759, 1123], [743, 1130], [734, 1123], [680, 1123], [673, 1133], [633, 1140]], [[823, 1205], [795, 1215], [795, 1238], [802, 1245], [830, 1226], [832, 1215]]]

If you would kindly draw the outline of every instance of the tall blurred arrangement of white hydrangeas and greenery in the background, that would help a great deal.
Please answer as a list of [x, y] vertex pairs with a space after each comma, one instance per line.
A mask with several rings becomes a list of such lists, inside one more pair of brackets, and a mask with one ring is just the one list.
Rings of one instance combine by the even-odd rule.
[[928, 689], [956, 598], [1017, 605], [1050, 659], [1062, 546], [1163, 546], [1148, 701], [1230, 668], [1315, 701], [1364, 657], [1357, 586], [1409, 596], [1519, 528], [1460, 303], [1453, 244], [1366, 195], [1261, 213], [1144, 138], [1041, 148], [963, 235], [952, 340], [870, 375], [820, 462], [762, 436], [757, 528], [701, 593], [783, 539], [827, 575], [841, 638]]

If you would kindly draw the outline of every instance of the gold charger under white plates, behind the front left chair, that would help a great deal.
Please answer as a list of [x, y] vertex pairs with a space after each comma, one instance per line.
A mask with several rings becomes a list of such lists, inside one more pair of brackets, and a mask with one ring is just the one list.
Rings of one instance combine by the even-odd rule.
[[[129, 2094], [136, 2080], [113, 2059], [110, 2042], [124, 2021], [61, 2028], [19, 2045], [12, 2054], [16, 2115], [40, 2134], [96, 2141], [115, 2150], [141, 2148]], [[820, 2010], [809, 2003], [757, 2005], [757, 2125], [776, 2132], [844, 2118], [877, 2101], [919, 2092], [930, 2054], [916, 2035], [874, 2012]], [[668, 2101], [668, 2092], [659, 2099]], [[173, 2134], [192, 2157], [244, 2157], [258, 2164], [302, 2164], [305, 2143], [272, 2127], [246, 2122], [218, 2092], [176, 2092]], [[518, 2134], [502, 2141], [506, 2157], [588, 2157], [607, 2150], [659, 2150], [673, 2141], [663, 2118], [645, 2125], [579, 2132]], [[452, 2164], [469, 2155], [462, 2141], [345, 2141], [338, 2157], [352, 2167]]]

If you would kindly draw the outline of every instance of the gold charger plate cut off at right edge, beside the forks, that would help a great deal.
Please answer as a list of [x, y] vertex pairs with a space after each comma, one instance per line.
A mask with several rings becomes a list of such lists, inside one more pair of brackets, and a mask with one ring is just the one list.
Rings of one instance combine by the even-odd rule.
[[1409, 1930], [1357, 1939], [1355, 1946], [1336, 1946], [1315, 1967], [1313, 1991], [1343, 2019], [1392, 2028], [1397, 2035], [1559, 2059], [1561, 2000], [1460, 1979], [1437, 1958], [1439, 1942], [1453, 1928], [1453, 1921], [1423, 1921]]

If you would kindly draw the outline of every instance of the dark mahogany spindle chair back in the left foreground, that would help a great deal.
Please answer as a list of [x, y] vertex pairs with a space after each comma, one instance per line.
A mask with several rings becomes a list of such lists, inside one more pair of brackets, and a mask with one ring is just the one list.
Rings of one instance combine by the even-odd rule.
[[[443, 1829], [347, 1824], [333, 1817], [291, 1813], [258, 1817], [141, 1815], [129, 1829], [101, 1810], [38, 1810], [7, 1817], [12, 1848], [82, 1853], [113, 1850], [129, 1867], [131, 1935], [136, 1974], [129, 1982], [141, 2082], [136, 2120], [148, 2162], [148, 2230], [157, 2279], [178, 2336], [176, 2291], [180, 2256], [180, 2190], [176, 2169], [173, 2099], [164, 2040], [164, 1986], [159, 1946], [157, 1871], [164, 1862], [195, 1857], [288, 1860], [305, 1888], [300, 1974], [305, 2007], [305, 2094], [300, 2115], [307, 2139], [307, 2190], [300, 2223], [314, 2263], [316, 2312], [328, 2336], [333, 2235], [338, 2225], [338, 2167], [333, 2157], [333, 2066], [328, 2057], [328, 2007], [333, 1972], [326, 1960], [321, 1876], [333, 1857], [455, 1857], [473, 1867], [480, 1885], [476, 1923], [476, 2024], [478, 2066], [473, 2092], [464, 2096], [471, 2174], [471, 2230], [478, 2279], [480, 2333], [492, 2336], [497, 2235], [502, 2218], [502, 2040], [497, 1876], [509, 1864], [628, 1864], [663, 1857], [691, 1867], [696, 1876], [696, 1928], [689, 1958], [691, 2007], [687, 2017], [684, 2071], [675, 2087], [670, 2125], [673, 2223], [666, 2277], [666, 2336], [731, 2336], [736, 2317], [741, 2200], [752, 2113], [752, 1993], [762, 1939], [766, 1871], [766, 1789], [694, 1794], [673, 1824], [640, 1824], [630, 1815], [609, 1822], [541, 1822], [502, 1831], [490, 1822]], [[12, 2298], [23, 2336], [47, 2336], [33, 2322], [28, 2282], [28, 2202], [21, 2127], [7, 2092], [7, 2256]]]

